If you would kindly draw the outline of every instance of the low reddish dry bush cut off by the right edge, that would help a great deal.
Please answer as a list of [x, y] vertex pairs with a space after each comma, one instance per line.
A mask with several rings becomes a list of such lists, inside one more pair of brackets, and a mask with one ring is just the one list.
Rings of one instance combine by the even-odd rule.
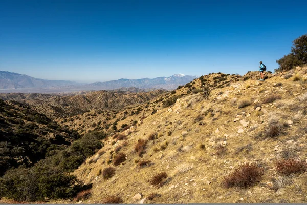
[[276, 171], [283, 175], [301, 173], [307, 170], [307, 164], [297, 159], [284, 159], [276, 162]]

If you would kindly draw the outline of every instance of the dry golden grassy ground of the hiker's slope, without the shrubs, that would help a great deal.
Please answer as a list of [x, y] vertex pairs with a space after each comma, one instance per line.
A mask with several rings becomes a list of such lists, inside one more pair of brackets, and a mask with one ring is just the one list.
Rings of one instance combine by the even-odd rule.
[[[139, 192], [143, 198], [152, 192], [161, 194], [161, 197], [153, 201], [147, 199], [145, 203], [305, 202], [306, 173], [288, 177], [291, 183], [277, 192], [270, 188], [272, 179], [281, 176], [276, 172], [274, 163], [276, 158], [281, 157], [282, 150], [289, 149], [301, 160], [306, 160], [306, 70], [307, 67], [281, 73], [264, 82], [242, 81], [243, 76], [239, 81], [230, 81], [227, 87], [212, 90], [209, 99], [204, 99], [201, 93], [190, 94], [178, 99], [171, 107], [162, 109], [160, 106], [153, 115], [144, 111], [145, 118], [130, 129], [132, 133], [129, 130], [124, 132], [130, 133], [126, 140], [114, 144], [114, 139], [109, 137], [100, 154], [88, 159], [74, 174], [86, 183], [93, 183], [93, 196], [88, 199], [90, 203], [102, 202], [112, 194], [121, 196], [124, 203], [133, 203], [132, 197]], [[295, 73], [299, 74], [299, 81], [293, 81]], [[248, 73], [250, 76], [257, 74]], [[198, 87], [200, 80], [194, 81], [195, 87]], [[176, 94], [184, 92], [186, 88]], [[280, 94], [282, 99], [261, 103], [272, 94]], [[251, 105], [239, 109], [237, 104], [242, 98], [250, 99]], [[261, 111], [257, 112], [255, 107], [259, 105]], [[208, 112], [210, 109], [212, 111]], [[274, 117], [280, 122], [291, 120], [293, 123], [289, 122], [290, 127], [276, 139], [257, 139], [258, 133], [267, 129], [268, 120]], [[234, 122], [235, 118], [239, 120]], [[120, 121], [119, 125], [130, 120]], [[238, 133], [240, 129], [242, 133]], [[169, 131], [172, 132], [170, 136]], [[159, 137], [148, 141], [142, 158], [151, 160], [151, 163], [140, 168], [135, 163], [140, 157], [135, 153], [134, 146], [139, 138], [147, 139], [155, 132], [159, 133]], [[200, 143], [205, 145], [204, 150], [199, 148]], [[216, 155], [218, 144], [227, 148], [224, 156]], [[162, 145], [167, 145], [166, 149], [161, 149]], [[107, 163], [110, 151], [117, 146], [123, 146], [121, 151], [127, 155], [120, 166], [114, 166], [112, 161]], [[238, 165], [250, 162], [261, 165], [265, 170], [260, 183], [248, 189], [223, 187], [224, 176]], [[100, 169], [107, 167], [116, 168], [115, 176], [108, 180], [102, 175], [97, 176]], [[184, 167], [192, 168], [185, 171]], [[161, 188], [150, 186], [148, 180], [162, 171], [168, 174], [164, 185]]]

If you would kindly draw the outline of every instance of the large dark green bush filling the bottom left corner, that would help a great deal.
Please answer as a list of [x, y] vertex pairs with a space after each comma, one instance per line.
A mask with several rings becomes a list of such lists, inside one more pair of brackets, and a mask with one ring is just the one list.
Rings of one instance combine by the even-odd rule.
[[69, 198], [77, 192], [76, 182], [75, 176], [41, 162], [9, 170], [0, 178], [0, 197], [27, 202]]

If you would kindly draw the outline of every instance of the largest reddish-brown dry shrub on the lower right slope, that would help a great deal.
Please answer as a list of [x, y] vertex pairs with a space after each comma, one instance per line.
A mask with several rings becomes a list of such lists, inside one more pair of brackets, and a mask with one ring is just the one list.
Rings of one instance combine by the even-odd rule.
[[255, 163], [240, 165], [232, 173], [224, 177], [224, 186], [226, 188], [238, 187], [246, 189], [260, 182], [263, 174], [264, 170], [255, 165]]

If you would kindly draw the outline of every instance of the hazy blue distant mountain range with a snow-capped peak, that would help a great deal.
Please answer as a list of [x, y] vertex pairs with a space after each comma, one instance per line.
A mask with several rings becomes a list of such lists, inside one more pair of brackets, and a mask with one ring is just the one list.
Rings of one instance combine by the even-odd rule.
[[74, 92], [81, 90], [114, 90], [120, 88], [135, 87], [139, 89], [166, 89], [173, 90], [180, 85], [185, 85], [198, 78], [198, 76], [176, 74], [170, 77], [156, 77], [153, 79], [118, 79], [107, 82], [81, 84], [67, 80], [44, 80], [28, 75], [0, 71], [0, 89], [2, 93], [50, 93], [50, 92]]

